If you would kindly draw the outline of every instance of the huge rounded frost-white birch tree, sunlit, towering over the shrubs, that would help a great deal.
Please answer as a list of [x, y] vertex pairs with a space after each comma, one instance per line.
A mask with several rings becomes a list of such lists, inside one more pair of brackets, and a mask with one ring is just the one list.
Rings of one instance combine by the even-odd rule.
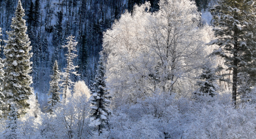
[[159, 90], [187, 96], [207, 60], [195, 3], [160, 0], [159, 6], [153, 14], [147, 2], [135, 6], [104, 34], [109, 82], [132, 102]]

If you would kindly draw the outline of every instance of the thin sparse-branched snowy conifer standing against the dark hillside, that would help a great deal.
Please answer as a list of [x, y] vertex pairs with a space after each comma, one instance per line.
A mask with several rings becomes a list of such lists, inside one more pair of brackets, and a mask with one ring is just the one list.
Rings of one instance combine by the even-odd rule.
[[65, 56], [67, 56], [67, 68], [64, 68], [65, 72], [62, 73], [63, 78], [61, 79], [61, 81], [63, 81], [61, 86], [63, 87], [64, 102], [66, 99], [67, 90], [69, 90], [69, 88], [74, 85], [74, 82], [70, 79], [70, 73], [76, 76], [79, 75], [77, 74], [77, 71], [75, 71], [78, 66], [73, 65], [73, 60], [77, 57], [77, 55], [75, 54], [75, 52], [77, 52], [75, 47], [77, 45], [77, 42], [75, 42], [76, 40], [74, 40], [74, 38], [75, 36], [69, 36], [68, 38], [66, 38], [68, 40], [67, 45], [62, 46], [63, 48], [68, 49], [68, 54], [65, 54]]

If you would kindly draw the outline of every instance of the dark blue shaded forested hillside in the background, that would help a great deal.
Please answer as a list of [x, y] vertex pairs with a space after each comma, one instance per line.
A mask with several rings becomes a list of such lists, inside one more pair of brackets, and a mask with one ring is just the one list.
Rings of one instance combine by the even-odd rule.
[[[0, 1], [0, 26], [2, 40], [7, 39], [17, 0]], [[132, 11], [133, 5], [144, 3], [142, 0], [22, 0], [25, 10], [33, 57], [31, 58], [35, 94], [38, 93], [41, 108], [47, 105], [50, 75], [55, 60], [61, 70], [66, 66], [65, 54], [69, 35], [78, 41], [74, 65], [78, 65], [80, 76], [73, 81], [91, 78], [95, 63], [99, 61], [102, 50], [103, 32], [106, 31], [121, 14]], [[151, 11], [159, 9], [158, 0], [152, 1]], [[5, 45], [1, 42], [1, 45]], [[1, 57], [4, 58], [3, 51]]]

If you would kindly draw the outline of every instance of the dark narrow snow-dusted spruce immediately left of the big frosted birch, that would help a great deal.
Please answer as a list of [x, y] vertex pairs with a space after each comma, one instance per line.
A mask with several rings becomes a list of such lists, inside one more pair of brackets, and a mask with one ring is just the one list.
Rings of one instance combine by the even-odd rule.
[[108, 117], [112, 111], [108, 108], [112, 98], [109, 94], [109, 88], [106, 85], [106, 67], [101, 55], [97, 74], [94, 82], [94, 90], [91, 90], [91, 118], [89, 126], [95, 128], [95, 132], [100, 135], [102, 130], [108, 125]]

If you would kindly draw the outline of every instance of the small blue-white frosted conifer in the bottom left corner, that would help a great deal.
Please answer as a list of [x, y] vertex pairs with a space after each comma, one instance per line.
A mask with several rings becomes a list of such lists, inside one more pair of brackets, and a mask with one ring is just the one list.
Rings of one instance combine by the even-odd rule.
[[18, 110], [16, 109], [16, 105], [12, 104], [10, 107], [9, 116], [7, 116], [8, 119], [6, 120], [6, 129], [3, 132], [1, 138], [2, 139], [24, 139], [23, 135], [20, 132], [20, 129], [18, 128]]

